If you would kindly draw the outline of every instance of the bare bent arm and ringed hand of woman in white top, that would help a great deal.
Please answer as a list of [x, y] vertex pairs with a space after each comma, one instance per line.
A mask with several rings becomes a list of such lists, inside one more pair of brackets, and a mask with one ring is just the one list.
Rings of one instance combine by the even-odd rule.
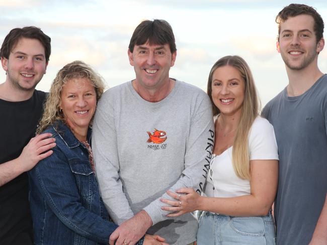
[[[188, 193], [180, 196], [179, 202], [162, 199], [162, 202], [172, 206], [162, 207], [173, 211], [169, 217], [175, 217], [195, 210], [211, 211], [232, 216], [267, 215], [274, 201], [278, 183], [277, 160], [252, 160], [251, 162], [251, 194], [238, 197], [204, 197], [190, 188], [181, 189], [178, 193]], [[178, 199], [176, 193], [169, 194]]]

